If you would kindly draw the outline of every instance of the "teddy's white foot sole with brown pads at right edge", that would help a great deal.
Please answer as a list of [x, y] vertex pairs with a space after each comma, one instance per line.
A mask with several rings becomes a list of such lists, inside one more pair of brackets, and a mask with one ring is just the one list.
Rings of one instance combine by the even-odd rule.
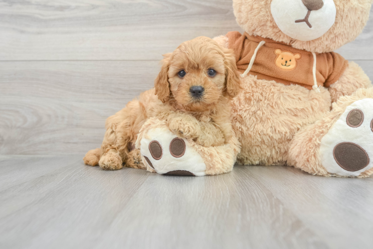
[[373, 99], [348, 106], [322, 138], [321, 163], [338, 176], [360, 176], [373, 168]]

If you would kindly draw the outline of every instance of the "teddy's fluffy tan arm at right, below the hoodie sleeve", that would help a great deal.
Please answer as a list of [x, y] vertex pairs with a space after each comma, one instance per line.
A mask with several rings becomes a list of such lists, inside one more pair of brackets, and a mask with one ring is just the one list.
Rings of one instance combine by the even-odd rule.
[[364, 73], [363, 69], [355, 62], [349, 62], [341, 78], [329, 87], [332, 101], [336, 102], [339, 97], [352, 95], [360, 88], [372, 87], [371, 80]]

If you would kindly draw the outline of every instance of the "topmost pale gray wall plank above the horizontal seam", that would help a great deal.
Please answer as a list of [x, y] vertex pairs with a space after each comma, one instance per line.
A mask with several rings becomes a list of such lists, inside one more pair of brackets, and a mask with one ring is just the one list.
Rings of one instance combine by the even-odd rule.
[[[231, 0], [0, 1], [0, 60], [159, 60], [181, 42], [242, 31]], [[338, 50], [371, 60], [373, 21]]]

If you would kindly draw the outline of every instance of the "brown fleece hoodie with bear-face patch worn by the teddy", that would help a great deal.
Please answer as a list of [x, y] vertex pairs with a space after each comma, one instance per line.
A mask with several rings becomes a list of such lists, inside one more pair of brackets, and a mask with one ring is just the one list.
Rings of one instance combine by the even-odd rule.
[[[297, 84], [312, 89], [314, 59], [311, 52], [238, 31], [229, 32], [227, 37], [229, 48], [234, 50], [239, 71], [244, 72], [247, 69], [259, 42], [265, 41], [257, 52], [249, 74], [257, 76], [258, 79], [274, 80], [285, 85]], [[317, 85], [331, 86], [342, 76], [347, 65], [348, 61], [337, 53], [317, 53]]]

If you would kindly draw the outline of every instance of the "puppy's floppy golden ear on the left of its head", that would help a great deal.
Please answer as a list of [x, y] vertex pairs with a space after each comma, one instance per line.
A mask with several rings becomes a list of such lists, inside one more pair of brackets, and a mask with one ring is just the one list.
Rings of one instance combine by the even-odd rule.
[[161, 72], [158, 74], [156, 80], [154, 81], [154, 87], [156, 89], [156, 95], [163, 103], [170, 99], [170, 83], [169, 83], [169, 66], [171, 53], [164, 54], [165, 58], [162, 60]]

